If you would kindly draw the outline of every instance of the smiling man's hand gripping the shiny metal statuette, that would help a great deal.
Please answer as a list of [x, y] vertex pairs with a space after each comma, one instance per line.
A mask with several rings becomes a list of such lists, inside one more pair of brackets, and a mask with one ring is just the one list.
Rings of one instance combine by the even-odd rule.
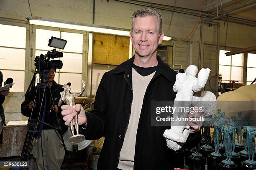
[[76, 115], [76, 111], [78, 113], [78, 124], [82, 125], [87, 123], [87, 117], [85, 115], [84, 108], [81, 106], [81, 104], [76, 104], [75, 109], [68, 105], [61, 106], [61, 109], [63, 120], [65, 121], [65, 124], [67, 126], [69, 126], [70, 122], [73, 120], [73, 117]]

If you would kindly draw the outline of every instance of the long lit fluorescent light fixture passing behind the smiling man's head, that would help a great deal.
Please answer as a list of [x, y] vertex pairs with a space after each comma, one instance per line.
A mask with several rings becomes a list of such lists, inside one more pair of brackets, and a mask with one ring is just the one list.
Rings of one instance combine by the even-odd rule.
[[[41, 18], [41, 17], [31, 17], [26, 16], [26, 19], [29, 20], [30, 24], [33, 25], [43, 25], [49, 27], [56, 27], [56, 28], [67, 28], [73, 30], [84, 30], [96, 33], [106, 33], [106, 34], [114, 34], [120, 36], [129, 36], [130, 30], [124, 28], [115, 28], [115, 27], [108, 27], [102, 25], [95, 25], [95, 24], [85, 24], [85, 23], [74, 23], [64, 20], [53, 20], [49, 18]], [[165, 41], [169, 41], [171, 37], [164, 36]]]

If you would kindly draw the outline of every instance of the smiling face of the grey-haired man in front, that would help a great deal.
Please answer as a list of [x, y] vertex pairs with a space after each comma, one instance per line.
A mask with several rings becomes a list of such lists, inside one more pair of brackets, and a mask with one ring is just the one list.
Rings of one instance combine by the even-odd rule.
[[164, 38], [163, 33], [159, 38], [158, 25], [155, 16], [137, 17], [133, 20], [133, 32], [130, 33], [130, 38], [136, 56], [156, 56], [157, 47]]

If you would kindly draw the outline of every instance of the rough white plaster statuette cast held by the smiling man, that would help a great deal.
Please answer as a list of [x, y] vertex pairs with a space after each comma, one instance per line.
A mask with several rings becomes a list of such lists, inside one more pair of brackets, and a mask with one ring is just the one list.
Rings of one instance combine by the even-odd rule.
[[[190, 65], [187, 67], [185, 73], [178, 73], [173, 90], [177, 92], [174, 99], [174, 107], [191, 107], [192, 101], [200, 100], [200, 97], [193, 97], [194, 92], [199, 92], [205, 86], [210, 74], [210, 69], [201, 69], [197, 75], [197, 66]], [[202, 99], [211, 98], [211, 93], [203, 93]], [[216, 98], [215, 98], [216, 100]], [[198, 102], [196, 102], [198, 103]], [[206, 114], [210, 113], [212, 109], [205, 110]], [[203, 111], [204, 112], [204, 111]], [[212, 110], [213, 112], [213, 110]], [[189, 112], [174, 112], [173, 117], [187, 118]], [[171, 129], [166, 129], [164, 137], [166, 138], [166, 145], [172, 150], [179, 150], [190, 133], [189, 125], [186, 121], [172, 121]]]

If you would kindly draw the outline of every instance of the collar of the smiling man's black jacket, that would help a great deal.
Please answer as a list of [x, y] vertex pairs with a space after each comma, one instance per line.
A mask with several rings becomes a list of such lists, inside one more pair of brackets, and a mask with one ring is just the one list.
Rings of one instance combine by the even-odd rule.
[[[162, 61], [162, 59], [157, 55], [156, 59], [158, 61], [156, 75], [160, 74], [164, 76], [170, 82], [174, 82], [176, 79], [176, 72], [171, 69], [166, 63]], [[121, 63], [117, 68], [113, 70], [113, 74], [121, 74], [121, 73], [131, 73], [133, 67], [134, 56], [129, 60]]]

